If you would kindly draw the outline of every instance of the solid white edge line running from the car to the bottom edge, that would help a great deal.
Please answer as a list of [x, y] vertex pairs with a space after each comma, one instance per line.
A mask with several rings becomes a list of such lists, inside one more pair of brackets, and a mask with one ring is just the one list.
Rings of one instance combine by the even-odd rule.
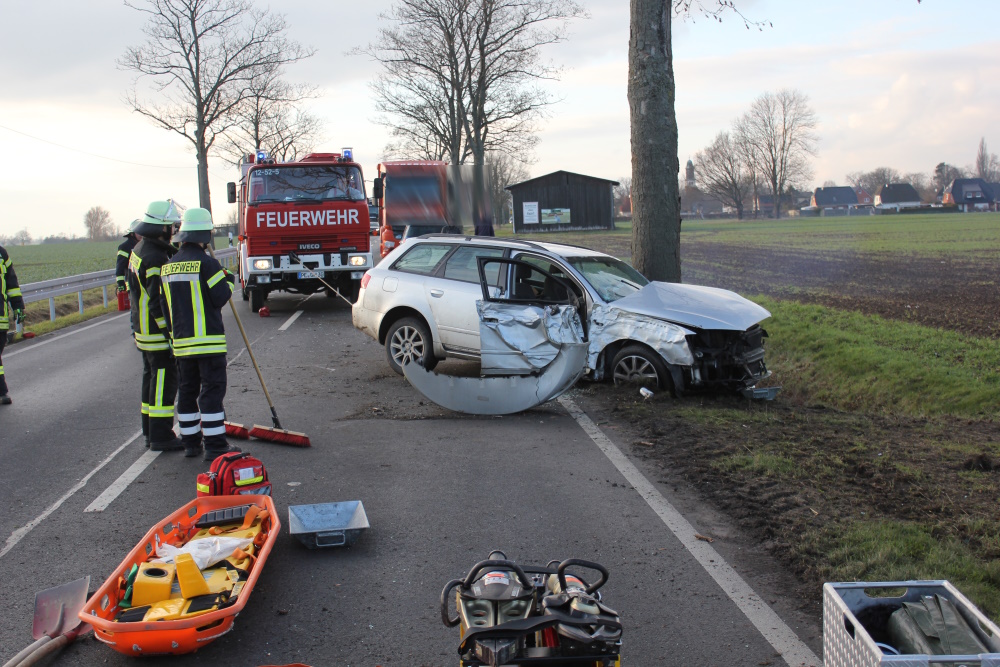
[[604, 452], [612, 465], [628, 480], [629, 484], [642, 496], [642, 499], [656, 512], [660, 520], [680, 540], [684, 548], [715, 579], [715, 582], [729, 596], [729, 599], [750, 619], [750, 622], [774, 647], [774, 650], [781, 654], [785, 662], [794, 667], [800, 665], [820, 667], [823, 663], [816, 657], [816, 654], [774, 613], [773, 609], [767, 606], [764, 600], [743, 580], [743, 577], [722, 559], [718, 551], [707, 542], [695, 537], [694, 526], [639, 472], [639, 469], [604, 435], [593, 420], [567, 396], [561, 396], [558, 400], [580, 425], [580, 428], [590, 436], [594, 444]]

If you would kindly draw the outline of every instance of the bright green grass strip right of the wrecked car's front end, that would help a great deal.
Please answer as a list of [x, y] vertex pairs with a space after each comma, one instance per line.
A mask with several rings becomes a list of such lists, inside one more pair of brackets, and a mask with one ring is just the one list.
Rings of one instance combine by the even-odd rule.
[[786, 391], [844, 410], [1000, 416], [1000, 345], [952, 331], [756, 297]]

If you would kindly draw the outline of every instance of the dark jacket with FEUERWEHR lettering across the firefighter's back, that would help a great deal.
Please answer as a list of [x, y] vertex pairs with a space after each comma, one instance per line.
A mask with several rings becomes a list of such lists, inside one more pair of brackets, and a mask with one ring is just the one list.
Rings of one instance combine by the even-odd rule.
[[163, 312], [175, 357], [226, 353], [222, 307], [233, 296], [236, 278], [194, 243], [161, 269]]

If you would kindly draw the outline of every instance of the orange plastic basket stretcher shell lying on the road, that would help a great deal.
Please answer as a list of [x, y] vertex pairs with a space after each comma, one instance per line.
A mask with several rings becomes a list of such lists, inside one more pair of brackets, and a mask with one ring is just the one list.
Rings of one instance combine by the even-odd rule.
[[[263, 544], [252, 560], [247, 579], [233, 604], [191, 618], [152, 622], [114, 620], [120, 611], [118, 607], [122, 596], [120, 579], [127, 577], [133, 566], [141, 566], [156, 558], [156, 549], [160, 544], [177, 546], [185, 543], [188, 533], [195, 530], [195, 523], [205, 513], [244, 505], [256, 505], [261, 510], [266, 510], [268, 514], [261, 522], [261, 532], [265, 534]], [[125, 655], [181, 655], [196, 651], [233, 629], [233, 622], [253, 592], [264, 562], [280, 532], [281, 522], [270, 496], [232, 495], [195, 498], [146, 533], [100, 589], [87, 600], [87, 604], [80, 611], [80, 620], [93, 626], [98, 640]]]

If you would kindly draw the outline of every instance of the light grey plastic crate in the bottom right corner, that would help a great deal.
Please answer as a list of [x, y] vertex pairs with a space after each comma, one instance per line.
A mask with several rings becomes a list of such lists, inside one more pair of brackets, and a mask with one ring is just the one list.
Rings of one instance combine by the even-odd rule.
[[[866, 589], [906, 589], [898, 597], [869, 597]], [[884, 642], [889, 615], [904, 602], [925, 595], [940, 595], [955, 605], [991, 653], [980, 655], [891, 655], [876, 642]], [[894, 581], [823, 584], [824, 667], [1000, 667], [1000, 628], [947, 581]]]

